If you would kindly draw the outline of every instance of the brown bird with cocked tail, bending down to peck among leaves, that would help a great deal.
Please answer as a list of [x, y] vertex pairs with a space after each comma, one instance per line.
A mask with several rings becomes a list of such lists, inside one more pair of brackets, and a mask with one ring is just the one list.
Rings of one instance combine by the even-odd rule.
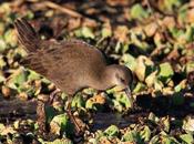
[[41, 40], [24, 19], [16, 20], [14, 27], [29, 54], [22, 64], [45, 76], [69, 95], [68, 112], [76, 132], [80, 127], [71, 113], [71, 99], [76, 92], [84, 88], [105, 91], [119, 86], [131, 96], [131, 70], [119, 64], [108, 65], [96, 48], [81, 40]]

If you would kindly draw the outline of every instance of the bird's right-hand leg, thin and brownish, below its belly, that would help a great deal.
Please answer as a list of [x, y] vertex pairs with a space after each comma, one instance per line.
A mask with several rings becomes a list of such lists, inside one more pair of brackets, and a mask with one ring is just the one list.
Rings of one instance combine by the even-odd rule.
[[72, 96], [68, 96], [68, 115], [70, 116], [71, 122], [73, 122], [74, 126], [75, 126], [75, 131], [79, 134], [81, 132], [81, 127], [79, 126], [74, 115], [71, 112], [71, 102], [72, 102]]

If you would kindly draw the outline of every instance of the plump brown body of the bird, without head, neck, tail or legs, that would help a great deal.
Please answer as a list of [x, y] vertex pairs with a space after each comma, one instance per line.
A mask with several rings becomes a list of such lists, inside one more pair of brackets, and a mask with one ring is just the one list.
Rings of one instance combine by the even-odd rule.
[[89, 86], [91, 79], [99, 79], [105, 64], [96, 48], [79, 40], [53, 42], [23, 61], [24, 66], [44, 75], [70, 94]]

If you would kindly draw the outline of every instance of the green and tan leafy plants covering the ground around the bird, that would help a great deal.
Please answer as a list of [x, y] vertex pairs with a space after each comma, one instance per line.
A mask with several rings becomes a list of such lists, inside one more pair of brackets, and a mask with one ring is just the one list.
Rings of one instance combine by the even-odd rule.
[[[62, 94], [52, 106], [44, 105], [50, 128], [49, 136], [42, 137], [33, 102], [47, 99], [55, 88], [20, 65], [27, 53], [13, 22], [21, 17], [41, 39], [82, 39], [106, 53], [110, 63], [129, 66], [134, 74], [134, 105], [114, 90], [102, 94], [84, 90], [75, 95], [72, 107], [90, 128], [75, 136]], [[193, 40], [192, 0], [1, 1], [0, 142], [194, 143]]]

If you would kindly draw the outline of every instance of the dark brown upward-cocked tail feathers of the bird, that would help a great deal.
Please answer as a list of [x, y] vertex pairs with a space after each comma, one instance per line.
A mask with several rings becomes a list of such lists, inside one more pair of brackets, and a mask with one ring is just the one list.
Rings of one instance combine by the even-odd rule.
[[24, 45], [27, 52], [35, 52], [40, 49], [41, 40], [25, 19], [17, 19], [14, 27], [18, 31], [18, 39]]

